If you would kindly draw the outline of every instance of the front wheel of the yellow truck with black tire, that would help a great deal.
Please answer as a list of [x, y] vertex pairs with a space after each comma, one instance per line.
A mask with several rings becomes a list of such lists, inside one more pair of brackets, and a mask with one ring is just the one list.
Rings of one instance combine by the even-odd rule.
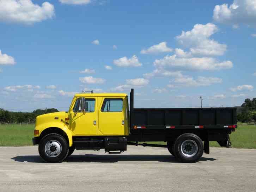
[[69, 147], [63, 136], [52, 133], [41, 139], [38, 151], [45, 162], [60, 163], [67, 157]]

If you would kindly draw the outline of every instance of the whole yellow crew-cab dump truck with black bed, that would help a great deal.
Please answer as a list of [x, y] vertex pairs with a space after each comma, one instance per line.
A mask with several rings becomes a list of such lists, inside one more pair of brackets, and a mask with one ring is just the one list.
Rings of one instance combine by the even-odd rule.
[[[134, 108], [134, 93], [74, 95], [67, 112], [36, 118], [33, 144], [46, 162], [62, 162], [74, 150], [121, 153], [127, 144], [166, 147], [177, 160], [195, 162], [209, 141], [229, 147], [236, 108]], [[141, 142], [164, 141], [166, 145]], [[204, 143], [203, 143], [204, 141]]]

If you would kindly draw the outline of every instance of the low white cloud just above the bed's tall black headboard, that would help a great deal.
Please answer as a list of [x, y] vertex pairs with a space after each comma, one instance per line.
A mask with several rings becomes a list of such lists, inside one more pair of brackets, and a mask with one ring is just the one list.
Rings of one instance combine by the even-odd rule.
[[125, 85], [119, 85], [117, 87], [111, 88], [111, 91], [124, 91], [126, 89], [130, 89], [132, 87], [144, 87], [148, 85], [149, 80], [138, 78], [138, 79], [127, 79]]

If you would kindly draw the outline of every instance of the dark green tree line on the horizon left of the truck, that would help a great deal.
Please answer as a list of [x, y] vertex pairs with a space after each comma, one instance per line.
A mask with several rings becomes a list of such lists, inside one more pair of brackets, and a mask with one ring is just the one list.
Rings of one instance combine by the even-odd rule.
[[34, 123], [36, 117], [45, 113], [59, 112], [57, 109], [37, 109], [33, 112], [11, 112], [0, 108], [0, 123]]

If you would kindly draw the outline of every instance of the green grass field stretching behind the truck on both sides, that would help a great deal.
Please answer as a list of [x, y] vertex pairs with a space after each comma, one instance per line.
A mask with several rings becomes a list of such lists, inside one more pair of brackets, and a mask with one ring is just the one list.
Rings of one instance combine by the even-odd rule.
[[[0, 146], [32, 145], [33, 125], [0, 125]], [[232, 148], [256, 149], [256, 126], [238, 126], [230, 135]], [[165, 142], [147, 142], [166, 144]], [[217, 142], [210, 142], [211, 147], [219, 147]]]

